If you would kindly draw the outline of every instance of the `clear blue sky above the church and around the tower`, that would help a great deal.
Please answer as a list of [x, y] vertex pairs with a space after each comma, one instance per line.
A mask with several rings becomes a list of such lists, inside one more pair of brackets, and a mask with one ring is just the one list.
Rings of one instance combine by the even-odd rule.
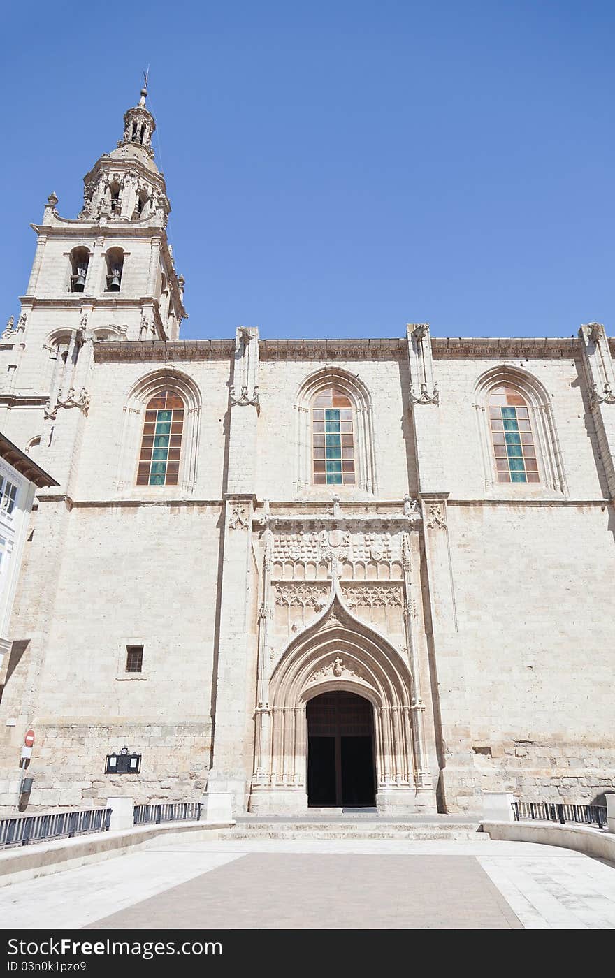
[[615, 333], [615, 5], [12, 5], [0, 295], [151, 65], [182, 335]]

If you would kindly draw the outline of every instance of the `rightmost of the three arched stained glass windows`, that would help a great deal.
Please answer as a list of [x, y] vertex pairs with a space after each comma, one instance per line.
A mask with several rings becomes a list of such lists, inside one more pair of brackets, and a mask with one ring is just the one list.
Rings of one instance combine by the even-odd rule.
[[530, 413], [524, 398], [507, 384], [489, 395], [489, 422], [499, 482], [540, 482]]

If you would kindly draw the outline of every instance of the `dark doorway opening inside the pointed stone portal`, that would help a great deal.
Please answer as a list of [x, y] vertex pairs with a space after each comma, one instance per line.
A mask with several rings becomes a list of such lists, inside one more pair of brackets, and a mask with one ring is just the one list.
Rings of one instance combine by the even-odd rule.
[[375, 804], [373, 707], [352, 692], [324, 692], [307, 704], [308, 805]]

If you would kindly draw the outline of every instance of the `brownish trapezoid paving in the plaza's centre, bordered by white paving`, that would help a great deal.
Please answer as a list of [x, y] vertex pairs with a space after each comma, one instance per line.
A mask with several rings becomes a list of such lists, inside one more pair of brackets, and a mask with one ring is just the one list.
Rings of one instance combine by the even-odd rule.
[[521, 924], [473, 856], [253, 853], [91, 927], [433, 930]]

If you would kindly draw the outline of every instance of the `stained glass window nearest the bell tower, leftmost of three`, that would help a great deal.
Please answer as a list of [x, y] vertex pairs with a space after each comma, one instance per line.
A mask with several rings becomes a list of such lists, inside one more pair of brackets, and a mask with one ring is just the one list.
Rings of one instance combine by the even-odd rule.
[[184, 402], [172, 390], [162, 390], [146, 408], [138, 486], [176, 486], [184, 428]]

